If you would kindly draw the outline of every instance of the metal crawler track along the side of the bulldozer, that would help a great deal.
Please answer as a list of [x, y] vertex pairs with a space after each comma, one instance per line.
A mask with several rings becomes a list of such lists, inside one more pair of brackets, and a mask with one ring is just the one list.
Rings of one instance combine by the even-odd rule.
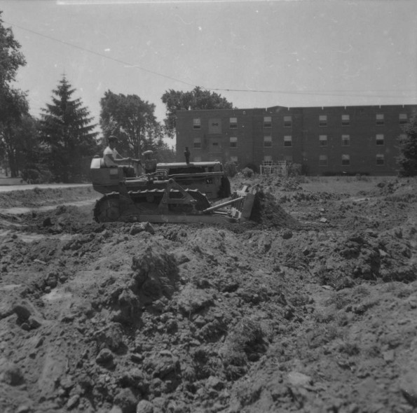
[[[200, 191], [186, 189], [186, 193], [197, 201], [195, 206], [193, 207], [191, 204], [172, 203], [168, 207], [170, 214], [192, 214], [194, 210], [203, 211], [210, 207], [210, 202], [207, 200], [207, 197], [200, 193]], [[118, 192], [109, 193], [95, 203], [93, 210], [94, 219], [98, 223], [125, 222], [137, 221], [141, 214], [158, 215], [160, 214], [158, 207], [164, 194], [165, 190], [163, 189], [129, 191], [127, 196]], [[171, 200], [180, 200], [182, 194], [179, 190], [171, 190], [170, 198]]]

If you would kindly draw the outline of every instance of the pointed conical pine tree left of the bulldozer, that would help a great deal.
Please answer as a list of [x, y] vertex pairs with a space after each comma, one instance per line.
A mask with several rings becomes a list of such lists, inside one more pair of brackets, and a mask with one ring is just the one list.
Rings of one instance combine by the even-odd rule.
[[98, 132], [81, 98], [72, 99], [75, 89], [62, 76], [53, 90], [52, 104], [42, 109], [41, 140], [48, 146], [48, 164], [55, 181], [75, 182], [82, 178], [83, 159], [95, 155]]

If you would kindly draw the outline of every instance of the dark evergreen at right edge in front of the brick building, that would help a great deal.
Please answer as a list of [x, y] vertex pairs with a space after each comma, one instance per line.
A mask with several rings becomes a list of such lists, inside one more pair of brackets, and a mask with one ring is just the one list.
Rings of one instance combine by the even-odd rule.
[[401, 176], [417, 175], [417, 113], [413, 113], [409, 123], [403, 127], [404, 136], [399, 137], [397, 163]]

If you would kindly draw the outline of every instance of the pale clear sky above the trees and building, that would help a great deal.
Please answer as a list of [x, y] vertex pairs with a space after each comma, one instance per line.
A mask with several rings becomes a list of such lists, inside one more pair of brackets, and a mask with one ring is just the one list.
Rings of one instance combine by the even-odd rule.
[[[94, 123], [104, 92], [200, 86], [240, 109], [417, 104], [414, 0], [0, 0], [30, 113], [62, 76]], [[175, 141], [168, 140], [175, 144]]]

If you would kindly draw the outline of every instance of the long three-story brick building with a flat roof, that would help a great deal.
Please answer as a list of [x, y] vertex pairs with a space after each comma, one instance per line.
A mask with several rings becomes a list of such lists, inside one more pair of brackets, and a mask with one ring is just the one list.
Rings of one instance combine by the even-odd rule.
[[221, 109], [177, 112], [177, 160], [286, 160], [310, 175], [397, 172], [398, 138], [417, 105]]

